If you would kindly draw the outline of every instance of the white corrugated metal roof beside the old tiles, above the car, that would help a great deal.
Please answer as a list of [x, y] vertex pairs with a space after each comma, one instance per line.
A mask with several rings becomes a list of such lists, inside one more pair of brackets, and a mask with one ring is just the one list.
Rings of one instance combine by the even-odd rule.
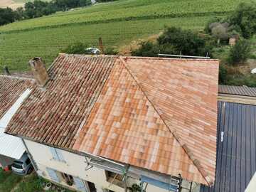
[[20, 159], [22, 154], [25, 152], [25, 147], [20, 138], [5, 134], [4, 131], [9, 124], [11, 118], [14, 116], [18, 107], [21, 106], [23, 100], [28, 97], [31, 90], [27, 89], [21, 96], [16, 100], [13, 106], [4, 114], [0, 119], [0, 154], [9, 156], [14, 159]]

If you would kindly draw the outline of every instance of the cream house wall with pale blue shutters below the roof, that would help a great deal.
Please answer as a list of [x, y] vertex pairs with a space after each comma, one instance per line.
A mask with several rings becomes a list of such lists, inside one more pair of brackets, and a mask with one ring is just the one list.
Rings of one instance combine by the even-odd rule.
[[[36, 162], [38, 175], [53, 181], [53, 183], [78, 191], [124, 191], [121, 166], [110, 164], [108, 161], [106, 161], [108, 163], [106, 165], [88, 164], [87, 161], [92, 160], [88, 156], [29, 140], [25, 140], [25, 142], [33, 156], [33, 161]], [[102, 159], [98, 161], [102, 161]], [[139, 174], [134, 174], [127, 178], [127, 187], [133, 184], [139, 185], [139, 177]], [[149, 184], [146, 188], [146, 191], [166, 191], [166, 188], [156, 186], [154, 183]]]

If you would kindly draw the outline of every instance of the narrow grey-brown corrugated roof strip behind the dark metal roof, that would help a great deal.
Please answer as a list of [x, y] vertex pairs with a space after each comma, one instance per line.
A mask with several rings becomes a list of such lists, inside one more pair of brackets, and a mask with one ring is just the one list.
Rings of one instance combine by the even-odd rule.
[[230, 95], [256, 97], [256, 87], [219, 85], [218, 92]]

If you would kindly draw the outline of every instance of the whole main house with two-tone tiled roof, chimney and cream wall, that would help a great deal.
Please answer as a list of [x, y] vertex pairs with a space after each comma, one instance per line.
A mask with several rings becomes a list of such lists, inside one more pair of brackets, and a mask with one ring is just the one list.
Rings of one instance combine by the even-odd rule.
[[218, 60], [61, 54], [9, 122], [38, 175], [78, 191], [215, 180]]

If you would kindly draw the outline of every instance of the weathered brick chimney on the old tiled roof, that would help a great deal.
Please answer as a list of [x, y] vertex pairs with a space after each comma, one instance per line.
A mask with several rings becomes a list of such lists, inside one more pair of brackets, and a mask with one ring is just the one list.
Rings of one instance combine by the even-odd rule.
[[49, 75], [46, 70], [46, 65], [43, 63], [42, 58], [33, 58], [29, 60], [29, 65], [33, 72], [33, 76], [36, 79], [36, 82], [40, 87], [46, 85], [46, 82], [49, 80]]

